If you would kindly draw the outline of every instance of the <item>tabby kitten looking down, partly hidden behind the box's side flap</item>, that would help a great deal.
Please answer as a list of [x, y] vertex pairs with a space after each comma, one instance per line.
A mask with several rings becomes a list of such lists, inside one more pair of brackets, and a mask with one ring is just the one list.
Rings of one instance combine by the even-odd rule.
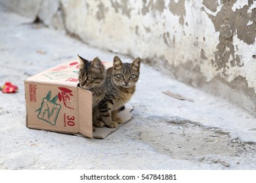
[[104, 126], [99, 120], [98, 103], [104, 98], [106, 92], [105, 79], [106, 69], [99, 58], [88, 61], [80, 57], [79, 86], [93, 93], [93, 125]]

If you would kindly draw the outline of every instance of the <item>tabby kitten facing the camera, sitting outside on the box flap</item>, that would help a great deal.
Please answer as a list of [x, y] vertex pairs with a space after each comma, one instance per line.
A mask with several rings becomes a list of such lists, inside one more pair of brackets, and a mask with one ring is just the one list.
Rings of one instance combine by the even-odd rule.
[[106, 126], [118, 127], [122, 122], [117, 117], [117, 112], [135, 93], [139, 75], [140, 58], [135, 59], [133, 63], [122, 63], [119, 57], [114, 57], [113, 67], [107, 70], [106, 95], [98, 105], [102, 121]]

